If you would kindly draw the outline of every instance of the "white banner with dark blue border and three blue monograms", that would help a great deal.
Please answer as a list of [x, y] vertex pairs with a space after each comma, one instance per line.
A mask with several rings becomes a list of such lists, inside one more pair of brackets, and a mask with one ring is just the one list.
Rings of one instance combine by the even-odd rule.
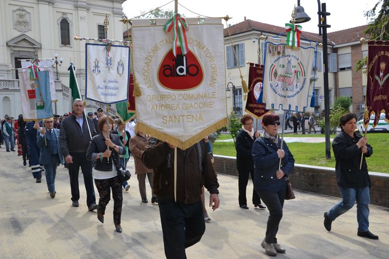
[[127, 101], [130, 73], [128, 46], [87, 43], [85, 98], [103, 104]]

